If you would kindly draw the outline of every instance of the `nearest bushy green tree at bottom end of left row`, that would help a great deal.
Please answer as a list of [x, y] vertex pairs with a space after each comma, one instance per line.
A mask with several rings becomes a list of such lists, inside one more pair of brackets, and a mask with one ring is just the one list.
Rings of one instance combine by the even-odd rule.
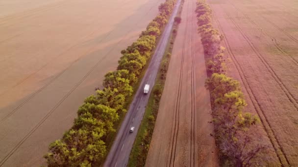
[[72, 129], [62, 140], [50, 144], [50, 153], [44, 157], [49, 167], [91, 167], [106, 153], [105, 143], [90, 130]]

